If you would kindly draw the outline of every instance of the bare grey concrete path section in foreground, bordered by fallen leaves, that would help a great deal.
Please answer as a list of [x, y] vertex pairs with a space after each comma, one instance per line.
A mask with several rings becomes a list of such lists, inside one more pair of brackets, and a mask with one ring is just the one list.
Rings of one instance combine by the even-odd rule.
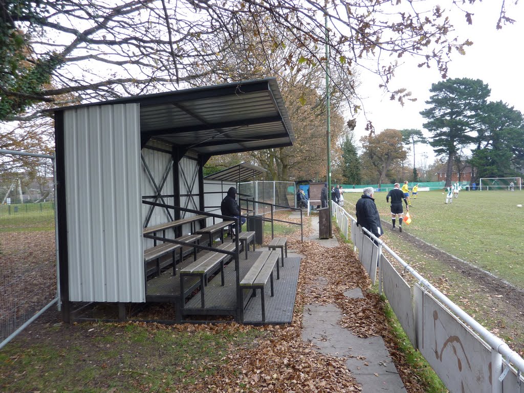
[[406, 391], [382, 337], [361, 339], [339, 325], [340, 310], [333, 304], [304, 306], [302, 340], [320, 353], [346, 357], [346, 365], [364, 393]]

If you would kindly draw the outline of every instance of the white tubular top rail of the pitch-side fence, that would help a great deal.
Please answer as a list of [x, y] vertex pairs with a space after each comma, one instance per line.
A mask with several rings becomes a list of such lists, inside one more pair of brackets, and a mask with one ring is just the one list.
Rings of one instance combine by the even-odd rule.
[[[336, 209], [341, 209], [342, 214], [347, 215], [350, 220], [355, 221], [356, 219], [346, 212], [341, 206], [337, 205]], [[447, 308], [449, 308], [453, 313], [455, 313], [459, 318], [462, 319], [465, 323], [470, 325], [475, 333], [482, 337], [482, 339], [490, 345], [495, 351], [503, 355], [506, 358], [507, 364], [512, 363], [514, 366], [518, 367], [519, 370], [524, 370], [524, 359], [520, 355], [511, 350], [511, 348], [499, 337], [494, 335], [492, 332], [488, 331], [484, 326], [478, 323], [471, 315], [462, 310], [457, 304], [452, 302], [449, 298], [445, 296], [441, 291], [436, 289], [427, 279], [422, 277], [419, 272], [413, 269], [409, 264], [407, 264], [400, 256], [398, 256], [391, 248], [389, 248], [383, 241], [376, 237], [373, 233], [369, 232], [366, 228], [362, 228], [362, 231], [366, 232], [370, 238], [377, 242], [379, 247], [384, 247], [387, 252], [394, 257], [400, 265], [402, 265], [405, 270], [418, 280], [419, 284], [427, 288], [436, 299], [441, 301]]]

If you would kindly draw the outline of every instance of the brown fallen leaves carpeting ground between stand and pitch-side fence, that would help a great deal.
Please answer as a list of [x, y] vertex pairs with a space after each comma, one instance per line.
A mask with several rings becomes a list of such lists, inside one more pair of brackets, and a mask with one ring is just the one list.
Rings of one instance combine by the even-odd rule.
[[[285, 220], [293, 220], [282, 217]], [[300, 222], [300, 219], [297, 220]], [[296, 221], [296, 222], [297, 222]], [[309, 219], [304, 220], [304, 236], [312, 232]], [[383, 304], [377, 294], [368, 292], [370, 281], [359, 263], [352, 246], [339, 239], [339, 246], [325, 248], [316, 242], [300, 242], [300, 227], [290, 225], [288, 247], [302, 254], [297, 298], [293, 311], [293, 322], [289, 325], [249, 326], [237, 323], [225, 324], [179, 324], [123, 323], [139, 325], [156, 330], [185, 331], [193, 334], [226, 332], [231, 335], [257, 330], [261, 333], [250, 345], [231, 345], [219, 365], [208, 365], [213, 373], [192, 374], [193, 380], [180, 381], [180, 385], [164, 385], [166, 392], [358, 392], [346, 359], [320, 354], [313, 344], [302, 340], [302, 312], [305, 304], [335, 304], [343, 315], [341, 326], [359, 337], [381, 335], [396, 363], [397, 370], [408, 392], [423, 392], [417, 376], [407, 365], [403, 354], [397, 351], [395, 339], [388, 330]], [[319, 279], [325, 285], [318, 285]], [[363, 299], [351, 299], [344, 292], [361, 288]], [[54, 321], [56, 322], [56, 321]], [[83, 325], [88, 325], [82, 328]], [[91, 324], [80, 324], [77, 329], [88, 331]], [[111, 325], [111, 324], [108, 324]], [[56, 324], [53, 325], [56, 329]], [[74, 328], [73, 328], [74, 329]], [[91, 329], [93, 330], [93, 329]], [[30, 333], [30, 332], [28, 332]], [[60, 335], [60, 331], [54, 330]], [[53, 332], [39, 330], [39, 335]], [[82, 333], [80, 333], [82, 334]], [[50, 337], [48, 337], [48, 340]], [[53, 339], [50, 339], [53, 340]], [[94, 348], [93, 348], [94, 350]], [[147, 374], [147, 373], [146, 373]], [[137, 372], [137, 375], [140, 375]], [[205, 376], [208, 375], [208, 376]], [[138, 385], [142, 385], [138, 383]], [[147, 386], [142, 385], [149, 391]]]

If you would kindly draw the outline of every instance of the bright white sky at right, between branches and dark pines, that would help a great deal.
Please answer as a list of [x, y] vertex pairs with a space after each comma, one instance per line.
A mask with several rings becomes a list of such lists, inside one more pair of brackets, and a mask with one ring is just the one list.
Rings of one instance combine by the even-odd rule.
[[[506, 1], [507, 15], [517, 21], [513, 25], [505, 25], [501, 30], [496, 29], [501, 0], [475, 3], [473, 25], [467, 25], [465, 18], [462, 15], [458, 17], [457, 14], [458, 19], [454, 20], [454, 24], [461, 41], [469, 38], [473, 41], [473, 46], [466, 48], [465, 56], [455, 54], [449, 66], [449, 77], [481, 79], [492, 91], [489, 101], [501, 100], [524, 113], [524, 77], [521, 71], [524, 61], [524, 6], [515, 6], [513, 3]], [[406, 101], [403, 107], [398, 102], [390, 101], [389, 95], [380, 91], [378, 77], [361, 75], [363, 83], [360, 93], [364, 97], [367, 96], [363, 101], [366, 115], [367, 119], [373, 122], [376, 133], [385, 128], [423, 130], [422, 124], [425, 120], [419, 112], [427, 106], [424, 101], [429, 99], [431, 84], [442, 79], [435, 68], [417, 68], [418, 62], [420, 61], [416, 59], [405, 59], [390, 85], [391, 90], [405, 87], [418, 99], [417, 102]], [[367, 134], [364, 130], [365, 125], [366, 118], [359, 115], [355, 128], [357, 139]], [[431, 147], [425, 150], [431, 163], [434, 159]], [[418, 164], [422, 159], [421, 155], [419, 157], [419, 151], [422, 153], [423, 150], [417, 147], [416, 151]], [[411, 161], [412, 159], [411, 156]]]

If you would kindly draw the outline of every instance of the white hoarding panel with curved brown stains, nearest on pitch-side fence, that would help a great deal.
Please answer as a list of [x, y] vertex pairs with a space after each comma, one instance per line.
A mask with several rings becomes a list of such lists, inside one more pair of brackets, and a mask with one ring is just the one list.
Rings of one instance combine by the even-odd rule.
[[490, 348], [418, 284], [414, 299], [418, 349], [447, 389], [490, 393]]

